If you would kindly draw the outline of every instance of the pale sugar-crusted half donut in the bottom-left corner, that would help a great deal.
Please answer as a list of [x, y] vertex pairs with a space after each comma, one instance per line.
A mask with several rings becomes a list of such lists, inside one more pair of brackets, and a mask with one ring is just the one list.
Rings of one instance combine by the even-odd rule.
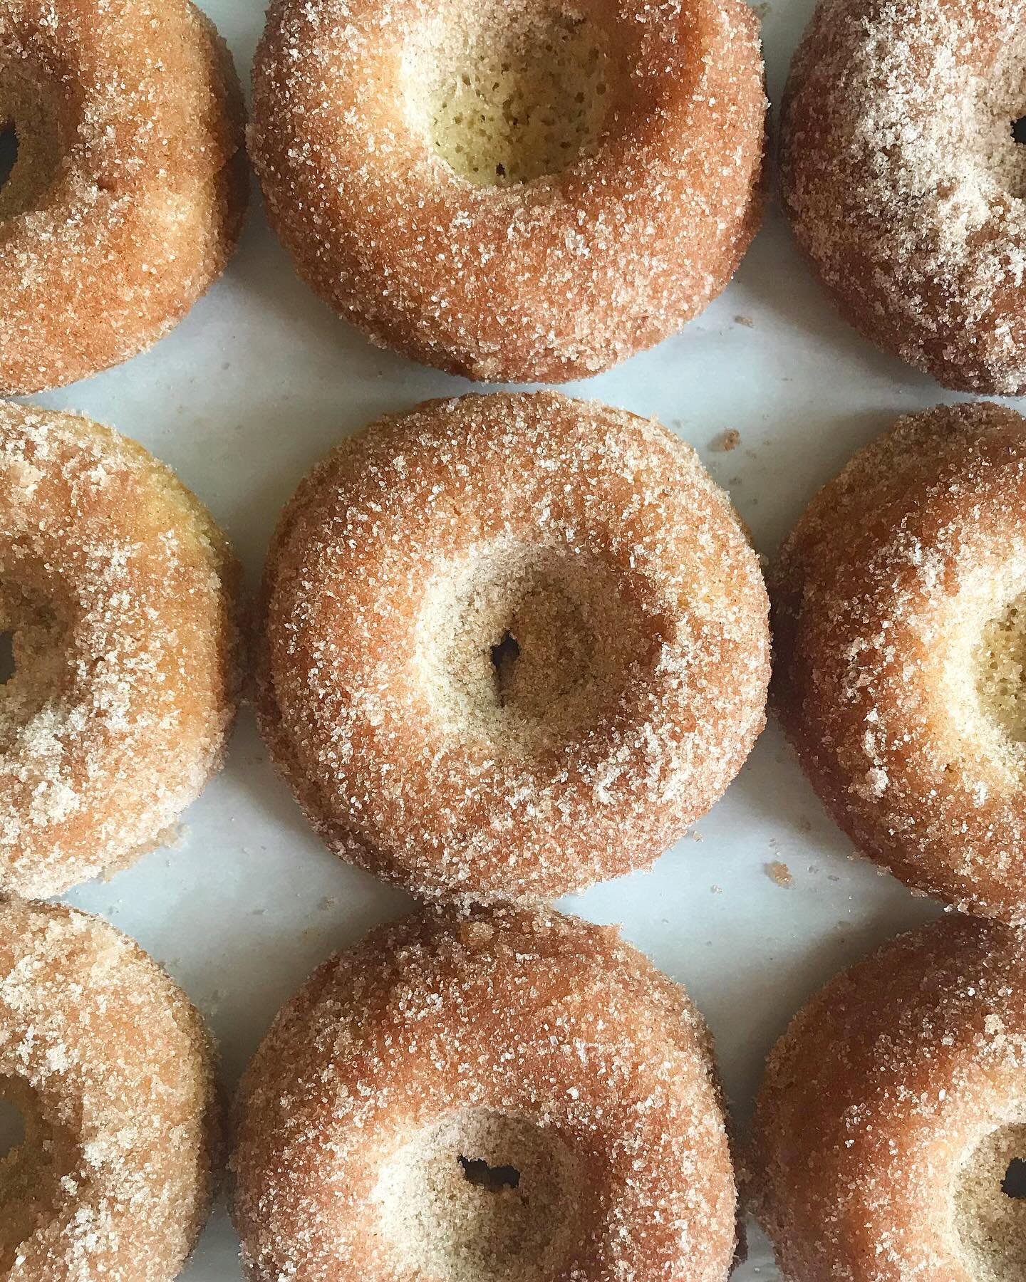
[[172, 1282], [219, 1158], [210, 1038], [106, 922], [0, 903], [0, 1277]]

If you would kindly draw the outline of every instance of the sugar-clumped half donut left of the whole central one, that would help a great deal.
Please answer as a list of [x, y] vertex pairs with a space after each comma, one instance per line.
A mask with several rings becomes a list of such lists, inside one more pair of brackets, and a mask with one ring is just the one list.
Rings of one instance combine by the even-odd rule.
[[236, 581], [140, 445], [0, 403], [0, 895], [62, 894], [168, 837], [235, 714]]

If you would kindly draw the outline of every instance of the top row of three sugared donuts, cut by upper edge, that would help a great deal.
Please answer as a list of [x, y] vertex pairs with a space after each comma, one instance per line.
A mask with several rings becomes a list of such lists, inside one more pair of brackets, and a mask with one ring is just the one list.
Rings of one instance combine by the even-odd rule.
[[[820, 0], [781, 190], [844, 315], [946, 386], [1026, 390], [1026, 0]], [[249, 151], [296, 269], [372, 341], [559, 382], [659, 342], [761, 219], [743, 0], [274, 0]], [[0, 391], [160, 338], [221, 274], [244, 109], [190, 0], [0, 0]]]

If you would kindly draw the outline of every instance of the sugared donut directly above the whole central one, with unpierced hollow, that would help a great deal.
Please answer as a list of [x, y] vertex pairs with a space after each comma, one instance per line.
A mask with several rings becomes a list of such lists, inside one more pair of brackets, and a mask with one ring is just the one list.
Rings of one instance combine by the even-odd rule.
[[563, 382], [725, 288], [764, 114], [741, 0], [273, 0], [250, 153], [300, 276], [373, 342]]

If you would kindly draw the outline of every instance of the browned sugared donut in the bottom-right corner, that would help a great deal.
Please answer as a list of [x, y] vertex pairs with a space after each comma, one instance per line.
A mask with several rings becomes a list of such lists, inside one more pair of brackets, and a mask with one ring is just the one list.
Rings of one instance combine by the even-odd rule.
[[828, 983], [770, 1056], [754, 1158], [786, 1282], [1021, 1282], [1026, 937], [945, 918]]

